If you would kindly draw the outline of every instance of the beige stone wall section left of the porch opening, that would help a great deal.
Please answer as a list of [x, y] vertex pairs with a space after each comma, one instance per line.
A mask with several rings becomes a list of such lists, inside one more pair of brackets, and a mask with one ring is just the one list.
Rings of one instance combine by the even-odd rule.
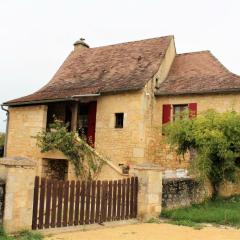
[[41, 153], [36, 146], [36, 136], [46, 128], [47, 106], [9, 108], [7, 157], [27, 157], [37, 161], [41, 173]]

